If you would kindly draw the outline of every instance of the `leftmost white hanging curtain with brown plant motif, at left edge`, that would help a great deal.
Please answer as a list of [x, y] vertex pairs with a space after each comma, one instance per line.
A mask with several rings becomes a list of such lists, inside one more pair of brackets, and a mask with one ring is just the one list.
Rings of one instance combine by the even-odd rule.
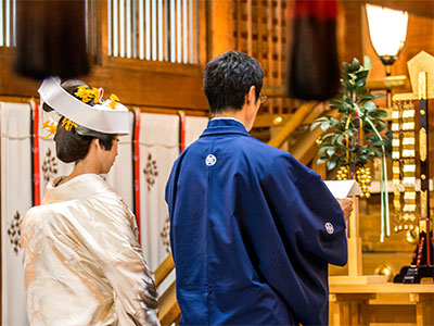
[[28, 325], [20, 226], [31, 206], [30, 105], [0, 102], [1, 325]]

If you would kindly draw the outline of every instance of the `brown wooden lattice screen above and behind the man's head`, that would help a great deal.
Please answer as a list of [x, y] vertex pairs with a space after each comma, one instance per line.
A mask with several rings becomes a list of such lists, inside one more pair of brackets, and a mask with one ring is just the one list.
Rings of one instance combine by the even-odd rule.
[[[265, 72], [265, 85], [281, 86], [286, 77], [286, 1], [233, 0], [235, 49], [257, 59]], [[270, 98], [261, 113], [292, 113], [293, 101]]]

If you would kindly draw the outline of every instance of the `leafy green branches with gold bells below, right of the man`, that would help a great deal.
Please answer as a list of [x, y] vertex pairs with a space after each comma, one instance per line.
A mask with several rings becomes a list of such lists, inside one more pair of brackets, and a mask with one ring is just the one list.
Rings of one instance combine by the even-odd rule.
[[385, 133], [387, 112], [373, 102], [384, 95], [372, 95], [366, 88], [371, 67], [367, 55], [363, 65], [357, 59], [350, 64], [344, 62], [341, 91], [330, 101], [340, 117], [321, 116], [310, 126], [311, 130], [320, 126], [324, 131], [319, 140], [318, 164], [326, 163], [328, 171], [337, 167], [337, 179], [356, 179], [367, 198], [371, 183], [368, 161], [382, 159], [382, 180], [386, 181], [385, 158], [392, 150], [392, 133]]

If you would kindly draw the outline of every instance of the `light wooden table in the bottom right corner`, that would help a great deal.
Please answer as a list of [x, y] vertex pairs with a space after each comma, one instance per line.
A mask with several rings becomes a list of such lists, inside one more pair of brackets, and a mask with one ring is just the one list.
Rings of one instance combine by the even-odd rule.
[[330, 285], [330, 325], [434, 325], [434, 284]]

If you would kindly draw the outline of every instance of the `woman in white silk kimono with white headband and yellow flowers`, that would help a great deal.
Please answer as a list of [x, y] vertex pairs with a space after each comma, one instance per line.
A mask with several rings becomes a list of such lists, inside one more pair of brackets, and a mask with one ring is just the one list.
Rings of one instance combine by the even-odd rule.
[[46, 79], [39, 92], [44, 110], [61, 115], [58, 158], [75, 167], [48, 185], [22, 224], [30, 324], [159, 325], [135, 216], [100, 176], [129, 131], [128, 110], [78, 80]]

